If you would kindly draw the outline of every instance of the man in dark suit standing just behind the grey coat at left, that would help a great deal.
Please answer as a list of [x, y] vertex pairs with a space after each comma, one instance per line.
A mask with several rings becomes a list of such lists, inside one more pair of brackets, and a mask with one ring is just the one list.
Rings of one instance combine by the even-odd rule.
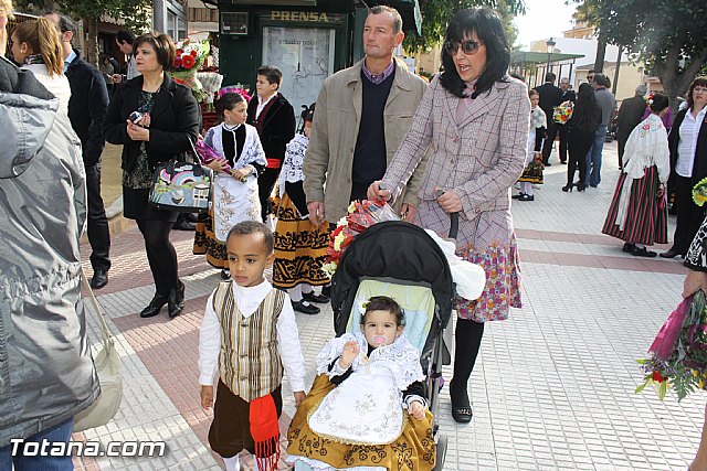
[[72, 47], [76, 34], [76, 24], [66, 15], [48, 13], [45, 18], [54, 23], [59, 31], [64, 55], [64, 74], [71, 85], [68, 119], [81, 139], [84, 167], [86, 168], [86, 192], [88, 212], [86, 228], [91, 244], [91, 266], [93, 277], [91, 287], [101, 289], [108, 282], [110, 269], [110, 232], [108, 218], [101, 196], [101, 156], [105, 147], [103, 139], [103, 118], [108, 108], [108, 90], [101, 72], [81, 58], [78, 51]]

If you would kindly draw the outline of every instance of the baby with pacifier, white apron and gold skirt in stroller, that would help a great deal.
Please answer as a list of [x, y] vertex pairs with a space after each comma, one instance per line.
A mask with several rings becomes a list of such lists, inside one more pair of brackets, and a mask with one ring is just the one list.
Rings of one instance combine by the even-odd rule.
[[431, 470], [432, 414], [404, 313], [386, 296], [361, 308], [361, 333], [329, 340], [317, 356], [318, 376], [289, 427], [289, 460], [295, 470]]

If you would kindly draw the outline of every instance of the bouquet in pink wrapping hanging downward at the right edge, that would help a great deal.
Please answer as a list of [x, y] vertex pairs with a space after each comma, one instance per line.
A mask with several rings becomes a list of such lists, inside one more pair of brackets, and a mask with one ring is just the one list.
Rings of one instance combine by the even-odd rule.
[[636, 393], [653, 385], [663, 400], [667, 388], [674, 387], [679, 402], [695, 389], [705, 388], [707, 311], [701, 290], [684, 299], [671, 313], [651, 344], [648, 354], [647, 358], [637, 361], [645, 377]]

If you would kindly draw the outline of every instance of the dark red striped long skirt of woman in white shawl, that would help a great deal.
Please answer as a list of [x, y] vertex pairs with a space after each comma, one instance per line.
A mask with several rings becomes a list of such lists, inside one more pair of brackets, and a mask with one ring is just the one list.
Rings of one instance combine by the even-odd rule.
[[[621, 173], [616, 182], [614, 196], [601, 232], [632, 244], [667, 243], [667, 204], [665, 204], [665, 195], [662, 199], [657, 197], [659, 185], [657, 168], [652, 165], [645, 169], [644, 176], [633, 180], [631, 191], [622, 195], [621, 189], [627, 176], [626, 173]], [[622, 196], [629, 197], [623, 231], [619, 228], [621, 221], [616, 221]]]

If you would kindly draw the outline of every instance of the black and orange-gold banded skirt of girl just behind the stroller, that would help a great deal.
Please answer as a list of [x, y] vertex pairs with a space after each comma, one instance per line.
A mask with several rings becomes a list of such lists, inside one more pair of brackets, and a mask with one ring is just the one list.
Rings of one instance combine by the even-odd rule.
[[321, 271], [329, 245], [327, 227], [299, 218], [287, 193], [283, 195], [276, 214], [273, 285], [283, 289], [299, 283], [327, 285], [329, 278]]

